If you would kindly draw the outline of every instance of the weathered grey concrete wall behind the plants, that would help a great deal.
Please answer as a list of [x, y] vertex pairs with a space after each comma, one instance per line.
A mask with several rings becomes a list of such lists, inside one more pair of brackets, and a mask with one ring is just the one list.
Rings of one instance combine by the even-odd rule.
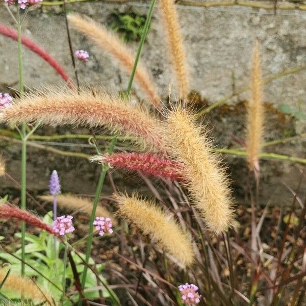
[[[117, 7], [124, 11], [127, 5], [90, 3], [70, 6], [71, 10], [100, 22], [105, 22], [111, 10]], [[147, 8], [138, 7], [137, 10], [145, 13]], [[232, 71], [237, 87], [248, 84], [250, 56], [256, 38], [261, 45], [264, 75], [306, 64], [306, 12], [298, 12], [296, 16], [274, 16], [265, 15], [267, 12], [262, 10], [240, 13], [241, 8], [237, 8], [234, 13], [231, 8], [228, 11], [179, 9], [192, 88], [203, 96], [213, 101], [230, 93]], [[44, 8], [44, 13], [30, 13], [24, 22], [24, 34], [48, 50], [73, 76], [64, 16], [57, 12], [60, 12], [59, 8]], [[0, 20], [13, 24], [3, 7], [0, 7]], [[173, 75], [157, 12], [151, 29], [143, 60], [154, 74], [160, 94], [165, 94]], [[87, 64], [79, 65], [82, 83], [99, 84], [114, 90], [126, 88], [126, 75], [110, 61], [109, 55], [75, 31], [72, 31], [72, 41], [74, 48], [88, 49], [91, 54]], [[132, 47], [136, 49], [137, 43], [132, 43]], [[16, 43], [0, 37], [0, 49], [0, 83], [17, 81]], [[60, 83], [52, 68], [28, 50], [24, 51], [24, 75], [25, 84], [30, 88]], [[300, 102], [305, 105], [305, 76], [306, 71], [303, 71], [270, 83], [265, 89], [266, 99], [275, 104], [297, 106]]]

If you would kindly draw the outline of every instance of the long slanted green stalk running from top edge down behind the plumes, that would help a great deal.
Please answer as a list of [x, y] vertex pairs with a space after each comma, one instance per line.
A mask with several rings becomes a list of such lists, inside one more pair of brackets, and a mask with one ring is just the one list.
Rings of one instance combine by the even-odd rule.
[[[152, 13], [153, 13], [155, 3], [156, 3], [156, 0], [152, 0], [151, 4], [150, 4], [150, 8], [149, 8], [149, 11], [148, 11], [148, 15], [147, 15], [147, 18], [146, 18], [146, 21], [145, 21], [145, 25], [144, 25], [144, 29], [143, 29], [143, 32], [142, 32], [142, 35], [141, 35], [140, 43], [139, 43], [139, 46], [138, 46], [134, 66], [133, 66], [133, 69], [132, 69], [129, 85], [127, 86], [127, 89], [126, 89], [126, 96], [129, 96], [129, 94], [131, 92], [131, 88], [132, 88], [137, 64], [138, 64], [138, 61], [139, 61], [139, 58], [140, 58], [140, 55], [141, 55], [141, 50], [142, 50], [144, 41], [145, 41], [147, 33], [148, 33], [148, 29], [149, 29], [149, 25], [150, 25], [150, 21], [151, 21], [151, 17], [152, 17]], [[118, 137], [118, 134], [114, 136], [114, 138], [111, 142], [111, 145], [108, 149], [109, 153], [113, 152], [115, 144], [117, 142], [117, 137]], [[84, 270], [83, 270], [83, 275], [82, 275], [82, 283], [81, 283], [83, 289], [85, 289], [87, 269], [88, 269], [88, 261], [89, 261], [89, 257], [90, 257], [90, 251], [91, 251], [91, 244], [92, 244], [92, 237], [93, 237], [93, 227], [94, 227], [93, 226], [93, 220], [94, 220], [94, 217], [95, 217], [96, 208], [97, 208], [97, 205], [98, 205], [98, 201], [99, 201], [99, 198], [100, 198], [100, 194], [101, 194], [101, 191], [102, 191], [102, 188], [103, 188], [105, 176], [106, 176], [106, 173], [107, 173], [108, 169], [109, 169], [109, 167], [107, 165], [102, 166], [99, 182], [98, 182], [96, 192], [95, 192], [95, 198], [94, 198], [92, 212], [91, 212], [90, 221], [89, 221], [90, 222], [90, 224], [89, 224], [89, 237], [88, 237], [88, 241], [87, 241], [87, 245], [86, 245], [86, 253], [85, 253], [86, 265], [84, 265]], [[82, 305], [82, 300], [81, 299], [79, 300], [78, 305], [79, 306]]]

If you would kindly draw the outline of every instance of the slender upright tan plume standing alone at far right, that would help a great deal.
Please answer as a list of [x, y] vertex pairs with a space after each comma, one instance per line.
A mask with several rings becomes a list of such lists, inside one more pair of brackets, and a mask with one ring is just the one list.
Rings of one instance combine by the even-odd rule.
[[259, 43], [256, 40], [251, 73], [251, 100], [247, 106], [246, 152], [248, 167], [259, 173], [259, 154], [264, 134], [264, 104], [260, 67]]

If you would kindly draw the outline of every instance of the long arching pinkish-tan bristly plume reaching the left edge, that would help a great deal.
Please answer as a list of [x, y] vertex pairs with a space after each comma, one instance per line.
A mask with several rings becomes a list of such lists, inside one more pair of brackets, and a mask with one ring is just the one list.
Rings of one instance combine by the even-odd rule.
[[53, 125], [105, 125], [111, 131], [136, 136], [138, 143], [163, 150], [158, 131], [159, 121], [139, 106], [126, 103], [119, 96], [100, 91], [80, 92], [72, 89], [46, 89], [14, 99], [9, 108], [0, 112], [0, 122], [11, 125], [40, 122]]

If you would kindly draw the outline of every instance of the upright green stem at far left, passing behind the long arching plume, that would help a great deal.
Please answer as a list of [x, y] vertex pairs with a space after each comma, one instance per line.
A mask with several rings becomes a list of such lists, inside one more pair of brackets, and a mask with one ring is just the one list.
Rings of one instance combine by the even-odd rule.
[[[18, 32], [18, 67], [19, 67], [19, 89], [20, 94], [23, 94], [23, 64], [22, 64], [22, 44], [21, 44], [21, 20], [20, 12], [17, 9], [17, 32]], [[27, 207], [25, 194], [27, 192], [27, 134], [26, 125], [22, 123], [21, 126], [21, 195], [20, 195], [20, 207], [25, 210]], [[24, 253], [25, 248], [25, 222], [21, 223], [21, 275], [24, 275]]]

